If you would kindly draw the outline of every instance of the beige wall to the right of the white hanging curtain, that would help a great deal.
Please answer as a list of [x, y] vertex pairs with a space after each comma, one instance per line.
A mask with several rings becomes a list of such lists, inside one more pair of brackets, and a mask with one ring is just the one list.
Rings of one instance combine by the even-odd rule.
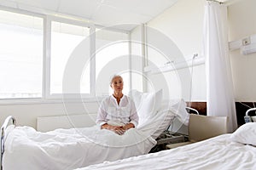
[[[256, 34], [256, 1], [241, 0], [228, 8], [230, 41]], [[256, 100], [256, 53], [230, 52], [236, 101]]]

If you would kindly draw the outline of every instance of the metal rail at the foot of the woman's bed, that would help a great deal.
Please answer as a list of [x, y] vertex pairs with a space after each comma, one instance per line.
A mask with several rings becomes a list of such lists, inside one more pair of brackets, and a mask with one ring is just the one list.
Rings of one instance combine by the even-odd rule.
[[5, 142], [5, 135], [6, 135], [6, 128], [8, 127], [9, 125], [9, 122], [12, 122], [13, 125], [15, 125], [16, 127], [16, 119], [14, 116], [8, 116], [4, 122], [3, 122], [3, 125], [1, 127], [1, 154], [0, 154], [0, 169], [2, 170], [3, 169], [3, 165], [2, 165], [2, 161], [3, 161], [3, 152], [4, 152], [4, 142]]

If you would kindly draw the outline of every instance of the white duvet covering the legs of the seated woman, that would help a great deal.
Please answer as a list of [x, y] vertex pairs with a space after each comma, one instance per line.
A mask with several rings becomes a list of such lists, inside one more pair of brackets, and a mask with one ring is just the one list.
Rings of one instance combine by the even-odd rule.
[[16, 127], [5, 142], [3, 169], [73, 169], [146, 154], [154, 144], [151, 136], [136, 128], [118, 135], [96, 126], [49, 133]]

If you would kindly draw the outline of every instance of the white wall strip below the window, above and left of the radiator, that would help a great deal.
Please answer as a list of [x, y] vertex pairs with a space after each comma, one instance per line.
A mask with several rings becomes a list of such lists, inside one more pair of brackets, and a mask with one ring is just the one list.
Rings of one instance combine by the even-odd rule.
[[[66, 104], [64, 104], [66, 103]], [[42, 103], [42, 104], [12, 104], [0, 105], [0, 122], [3, 123], [7, 116], [15, 116], [20, 126], [37, 127], [39, 116], [63, 116], [85, 113], [96, 113], [97, 102], [89, 103]]]

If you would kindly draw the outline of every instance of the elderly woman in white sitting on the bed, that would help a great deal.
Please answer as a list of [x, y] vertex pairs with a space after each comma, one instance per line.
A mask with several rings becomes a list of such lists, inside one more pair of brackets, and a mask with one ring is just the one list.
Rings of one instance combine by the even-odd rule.
[[123, 91], [123, 78], [119, 75], [112, 77], [110, 87], [113, 94], [103, 99], [99, 108], [96, 123], [119, 135], [126, 130], [136, 127], [138, 122], [137, 110], [134, 102]]

